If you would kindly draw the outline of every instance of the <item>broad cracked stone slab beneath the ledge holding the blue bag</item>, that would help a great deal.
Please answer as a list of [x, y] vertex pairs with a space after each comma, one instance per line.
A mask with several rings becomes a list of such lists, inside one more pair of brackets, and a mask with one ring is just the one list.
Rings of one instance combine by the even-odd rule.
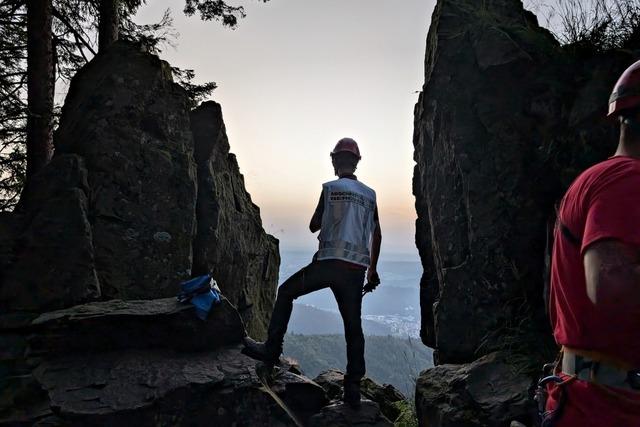
[[[44, 362], [34, 375], [64, 425], [294, 426], [240, 350], [85, 354]], [[283, 401], [326, 403], [320, 386], [293, 373], [275, 375], [271, 389]]]

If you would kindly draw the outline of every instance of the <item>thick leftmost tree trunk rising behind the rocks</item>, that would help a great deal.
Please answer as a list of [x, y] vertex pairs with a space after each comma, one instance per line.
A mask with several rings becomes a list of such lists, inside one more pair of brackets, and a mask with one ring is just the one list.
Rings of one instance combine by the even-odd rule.
[[52, 0], [27, 2], [27, 180], [53, 154]]

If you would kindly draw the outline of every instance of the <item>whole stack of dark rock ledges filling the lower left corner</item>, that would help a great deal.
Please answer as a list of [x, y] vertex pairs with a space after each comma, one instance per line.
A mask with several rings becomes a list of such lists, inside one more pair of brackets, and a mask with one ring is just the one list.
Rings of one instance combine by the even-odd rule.
[[385, 392], [353, 411], [341, 384], [329, 393], [287, 361], [244, 356], [243, 332], [225, 299], [206, 321], [173, 298], [1, 316], [0, 426], [392, 425], [388, 387], [366, 380]]

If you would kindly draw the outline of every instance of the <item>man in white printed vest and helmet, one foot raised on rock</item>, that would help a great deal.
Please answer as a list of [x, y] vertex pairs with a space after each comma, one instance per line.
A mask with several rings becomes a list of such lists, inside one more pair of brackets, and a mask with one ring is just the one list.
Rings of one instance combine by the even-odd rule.
[[[353, 139], [338, 141], [331, 152], [338, 179], [322, 186], [320, 201], [309, 224], [312, 233], [320, 230], [318, 252], [311, 264], [289, 277], [278, 289], [267, 341], [259, 343], [247, 337], [243, 350], [255, 359], [276, 363], [282, 353], [293, 300], [330, 288], [344, 322], [347, 373], [343, 400], [352, 407], [360, 405], [360, 380], [365, 373], [360, 318], [365, 272], [370, 284], [379, 283], [376, 266], [382, 241], [376, 193], [354, 175], [360, 159], [358, 144]], [[365, 291], [372, 290], [367, 287]]]

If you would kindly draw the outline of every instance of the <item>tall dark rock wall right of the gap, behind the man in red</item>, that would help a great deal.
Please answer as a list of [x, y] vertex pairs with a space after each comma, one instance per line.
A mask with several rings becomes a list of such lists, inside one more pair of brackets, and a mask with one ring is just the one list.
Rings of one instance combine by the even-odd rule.
[[[436, 363], [504, 350], [533, 379], [553, 357], [542, 298], [547, 223], [578, 171], [612, 152], [607, 99], [637, 57], [561, 47], [520, 0], [438, 1], [415, 109], [413, 183], [421, 335]], [[477, 366], [447, 369], [460, 376]], [[418, 389], [422, 421], [486, 425], [484, 409], [466, 424], [445, 422], [455, 408], [438, 405], [454, 400], [467, 413], [468, 385], [456, 384], [442, 393], [459, 399]]]

